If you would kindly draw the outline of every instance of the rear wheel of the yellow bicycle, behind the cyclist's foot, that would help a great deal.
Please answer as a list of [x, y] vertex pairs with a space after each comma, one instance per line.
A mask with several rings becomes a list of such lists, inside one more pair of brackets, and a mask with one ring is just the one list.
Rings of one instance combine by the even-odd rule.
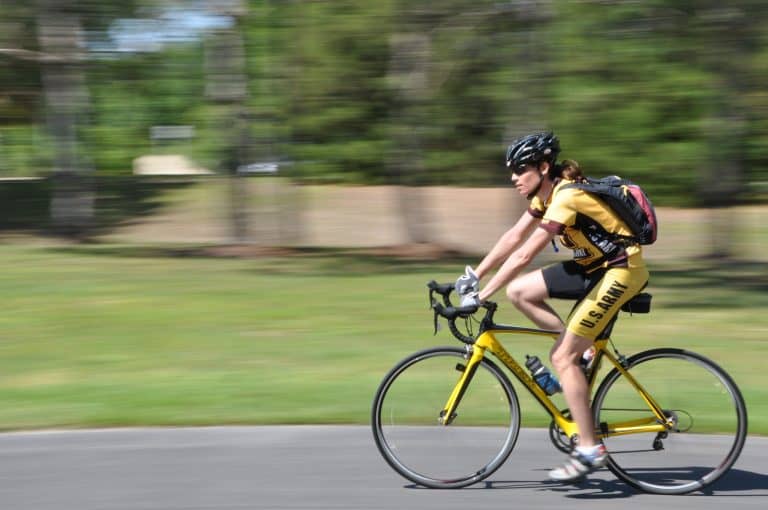
[[[710, 359], [682, 349], [644, 351], [627, 363], [676, 425], [666, 437], [654, 433], [605, 438], [608, 468], [632, 487], [655, 494], [686, 494], [718, 480], [738, 459], [747, 436], [747, 409], [733, 379]], [[602, 422], [650, 414], [626, 380], [614, 368], [595, 392], [592, 406], [598, 428]], [[702, 440], [705, 448], [698, 447]]]

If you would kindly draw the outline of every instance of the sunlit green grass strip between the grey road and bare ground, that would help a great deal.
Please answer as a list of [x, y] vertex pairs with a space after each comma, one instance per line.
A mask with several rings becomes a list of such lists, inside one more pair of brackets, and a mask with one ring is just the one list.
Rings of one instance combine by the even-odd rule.
[[[193, 253], [4, 245], [0, 428], [367, 423], [396, 361], [458, 345], [447, 331], [432, 335], [425, 282], [452, 280], [468, 261]], [[654, 311], [619, 322], [619, 349], [715, 359], [744, 393], [750, 432], [768, 434], [764, 265], [683, 267], [651, 266]], [[499, 319], [523, 322], [509, 306]], [[507, 347], [523, 358], [549, 345]], [[546, 425], [516, 388], [524, 424]]]

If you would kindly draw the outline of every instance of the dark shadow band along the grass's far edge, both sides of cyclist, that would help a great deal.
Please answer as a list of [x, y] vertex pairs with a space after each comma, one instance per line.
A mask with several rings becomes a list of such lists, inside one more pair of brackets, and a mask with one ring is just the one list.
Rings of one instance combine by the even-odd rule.
[[[49, 248], [81, 256], [128, 258], [201, 258], [253, 261], [254, 272], [268, 266], [273, 274], [357, 277], [386, 273], [461, 272], [480, 257], [436, 245], [403, 245], [387, 248], [279, 248], [252, 245], [114, 245], [79, 244]], [[649, 291], [657, 298], [665, 291], [685, 291], [685, 299], [667, 300], [665, 308], [754, 306], [751, 299], [768, 305], [768, 264], [758, 261], [689, 261], [685, 266], [651, 262]], [[707, 292], [701, 292], [707, 290]], [[737, 293], [738, 296], [735, 296]], [[746, 300], [746, 301], [745, 301]], [[658, 302], [658, 300], [657, 300]]]

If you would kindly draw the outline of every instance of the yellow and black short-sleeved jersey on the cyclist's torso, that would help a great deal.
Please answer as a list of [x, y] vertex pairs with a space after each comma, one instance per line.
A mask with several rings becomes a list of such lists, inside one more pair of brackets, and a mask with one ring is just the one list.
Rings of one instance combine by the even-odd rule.
[[600, 267], [644, 267], [640, 245], [625, 246], [611, 234], [631, 236], [627, 225], [602, 200], [577, 189], [555, 183], [549, 198], [534, 197], [528, 212], [541, 218], [540, 227], [560, 236], [560, 243], [573, 250], [574, 260], [586, 271]]

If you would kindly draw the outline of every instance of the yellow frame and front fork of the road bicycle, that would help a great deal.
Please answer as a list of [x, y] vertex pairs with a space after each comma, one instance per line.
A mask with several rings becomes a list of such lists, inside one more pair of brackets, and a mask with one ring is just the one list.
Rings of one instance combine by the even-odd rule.
[[[557, 338], [558, 333], [553, 331], [546, 331], [540, 329], [531, 328], [517, 328], [507, 327], [504, 329], [489, 329], [480, 334], [475, 343], [472, 346], [471, 356], [467, 362], [465, 369], [462, 372], [459, 381], [453, 389], [448, 402], [446, 403], [443, 411], [440, 413], [441, 422], [444, 425], [451, 423], [456, 416], [456, 409], [461, 402], [461, 398], [464, 395], [467, 387], [469, 386], [472, 376], [475, 373], [478, 365], [485, 356], [486, 351], [490, 351], [506, 366], [515, 377], [530, 391], [536, 400], [546, 409], [546, 411], [552, 416], [555, 424], [563, 431], [568, 437], [573, 437], [578, 434], [578, 427], [576, 423], [566, 418], [563, 413], [554, 405], [549, 395], [539, 387], [536, 381], [528, 374], [524, 367], [522, 367], [512, 355], [507, 352], [504, 346], [497, 340], [496, 334], [529, 334], [538, 336], [549, 336]], [[648, 409], [651, 413], [647, 418], [623, 421], [616, 423], [599, 423], [597, 424], [596, 434], [598, 437], [610, 437], [626, 434], [638, 434], [647, 432], [664, 432], [669, 430], [673, 426], [673, 421], [664, 415], [664, 411], [659, 407], [653, 397], [640, 385], [640, 383], [632, 376], [632, 374], [624, 368], [622, 363], [611, 354], [606, 348], [609, 339], [601, 339], [595, 342], [595, 360], [588, 377], [588, 384], [590, 394], [595, 384], [595, 375], [598, 372], [600, 363], [603, 359], [607, 359], [610, 364], [618, 370], [622, 376], [634, 387], [643, 401], [648, 405]]]

